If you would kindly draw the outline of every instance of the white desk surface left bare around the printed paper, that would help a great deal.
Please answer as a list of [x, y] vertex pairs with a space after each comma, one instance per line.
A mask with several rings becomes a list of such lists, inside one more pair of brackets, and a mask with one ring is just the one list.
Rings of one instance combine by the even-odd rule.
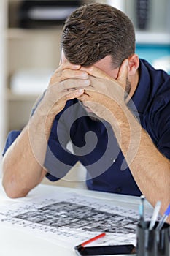
[[[30, 198], [35, 198], [42, 195], [47, 195], [49, 192], [55, 192], [57, 189], [61, 189], [63, 192], [77, 192], [80, 195], [88, 195], [93, 198], [100, 198], [104, 202], [117, 203], [117, 206], [131, 208], [134, 210], [138, 209], [139, 197], [132, 197], [126, 195], [116, 195], [106, 192], [94, 192], [84, 189], [70, 189], [66, 187], [55, 187], [39, 184], [35, 189], [33, 189], [27, 197], [20, 199], [10, 199], [5, 193], [4, 189], [1, 187], [0, 179], [0, 208], [1, 206], [9, 206], [13, 203], [26, 202]], [[148, 213], [152, 212], [152, 207], [149, 203], [146, 203], [146, 211]], [[1, 256], [75, 256], [74, 249], [72, 251], [58, 246], [50, 241], [46, 241], [43, 238], [38, 238], [37, 236], [25, 233], [24, 231], [15, 230], [9, 227], [0, 227], [0, 255]]]

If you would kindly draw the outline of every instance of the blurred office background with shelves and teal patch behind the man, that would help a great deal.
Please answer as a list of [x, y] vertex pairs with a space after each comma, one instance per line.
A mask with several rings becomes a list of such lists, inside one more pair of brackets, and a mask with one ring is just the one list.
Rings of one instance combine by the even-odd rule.
[[[60, 60], [63, 21], [80, 4], [93, 1], [0, 1], [0, 151], [7, 133], [22, 129], [38, 95]], [[105, 0], [123, 10], [136, 29], [136, 53], [170, 73], [170, 0]], [[1, 171], [0, 171], [1, 173]], [[83, 187], [77, 165], [63, 185]], [[70, 181], [71, 180], [71, 181]]]

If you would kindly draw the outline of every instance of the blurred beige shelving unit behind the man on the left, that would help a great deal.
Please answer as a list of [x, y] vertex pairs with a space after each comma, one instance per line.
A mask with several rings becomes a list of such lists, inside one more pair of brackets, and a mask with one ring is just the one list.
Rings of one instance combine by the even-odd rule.
[[[60, 60], [61, 26], [49, 29], [20, 29], [18, 8], [20, 0], [8, 0], [7, 42], [7, 132], [22, 129], [27, 123], [38, 94], [24, 93], [28, 80], [23, 80], [23, 91], [12, 89], [12, 79], [20, 70], [55, 70]], [[26, 78], [27, 79], [27, 78]], [[30, 84], [32, 86], [32, 84]], [[27, 90], [26, 90], [27, 91]]]

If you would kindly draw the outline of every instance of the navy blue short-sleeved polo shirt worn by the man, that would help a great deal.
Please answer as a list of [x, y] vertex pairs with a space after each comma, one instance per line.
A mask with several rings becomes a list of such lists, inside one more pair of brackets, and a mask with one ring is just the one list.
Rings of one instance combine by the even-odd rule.
[[[139, 118], [158, 150], [170, 159], [170, 76], [144, 60], [140, 60], [139, 69], [139, 84], [132, 97], [136, 108], [131, 102], [128, 108]], [[19, 134], [9, 134], [4, 152]], [[69, 140], [74, 154], [66, 148]], [[141, 195], [128, 166], [123, 168], [123, 160], [107, 121], [93, 121], [77, 99], [66, 102], [64, 110], [55, 116], [50, 133], [45, 157], [47, 178], [63, 178], [80, 161], [87, 169], [88, 189]]]

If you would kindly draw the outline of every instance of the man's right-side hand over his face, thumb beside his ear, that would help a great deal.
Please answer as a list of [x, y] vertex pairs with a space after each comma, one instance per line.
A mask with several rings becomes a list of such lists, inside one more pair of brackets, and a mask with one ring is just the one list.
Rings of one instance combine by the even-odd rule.
[[128, 60], [123, 61], [116, 79], [96, 67], [81, 67], [80, 70], [88, 72], [90, 85], [84, 88], [84, 94], [78, 99], [97, 116], [110, 121], [115, 111], [125, 105]]

